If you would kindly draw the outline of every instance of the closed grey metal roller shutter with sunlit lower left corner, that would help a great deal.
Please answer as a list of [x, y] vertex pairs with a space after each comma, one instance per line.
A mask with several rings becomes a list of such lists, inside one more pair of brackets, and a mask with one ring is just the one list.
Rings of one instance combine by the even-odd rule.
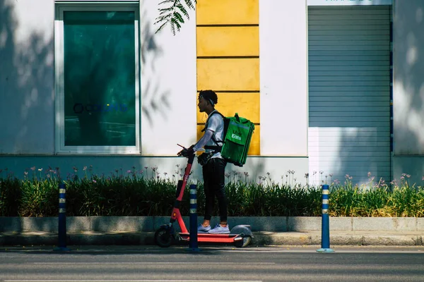
[[390, 6], [308, 9], [310, 181], [390, 180], [390, 15]]

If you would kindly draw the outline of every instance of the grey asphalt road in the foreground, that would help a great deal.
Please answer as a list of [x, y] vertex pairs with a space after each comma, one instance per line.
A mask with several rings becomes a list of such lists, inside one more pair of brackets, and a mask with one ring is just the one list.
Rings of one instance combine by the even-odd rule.
[[0, 247], [0, 281], [424, 281], [424, 247]]

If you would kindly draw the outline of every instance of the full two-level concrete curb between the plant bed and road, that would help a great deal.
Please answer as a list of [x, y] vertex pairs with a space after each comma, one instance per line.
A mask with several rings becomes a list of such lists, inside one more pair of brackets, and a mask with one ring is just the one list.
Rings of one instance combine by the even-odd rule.
[[[155, 245], [155, 231], [169, 220], [169, 216], [68, 216], [66, 243]], [[189, 217], [183, 220], [189, 226]], [[331, 245], [424, 245], [424, 218], [330, 217], [329, 221]], [[321, 245], [321, 217], [235, 216], [228, 222], [252, 226], [252, 246]], [[58, 238], [58, 217], [0, 216], [0, 245], [57, 245]]]

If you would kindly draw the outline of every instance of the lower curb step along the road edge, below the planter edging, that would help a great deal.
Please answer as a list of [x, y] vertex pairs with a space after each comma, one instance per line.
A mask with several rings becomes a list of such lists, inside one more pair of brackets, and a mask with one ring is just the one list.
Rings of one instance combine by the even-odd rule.
[[[153, 232], [66, 233], [67, 245], [155, 245]], [[251, 246], [321, 245], [320, 233], [254, 232]], [[330, 234], [331, 245], [423, 246], [423, 235]], [[0, 245], [57, 245], [57, 233], [1, 233]], [[175, 245], [184, 245], [176, 243]]]

